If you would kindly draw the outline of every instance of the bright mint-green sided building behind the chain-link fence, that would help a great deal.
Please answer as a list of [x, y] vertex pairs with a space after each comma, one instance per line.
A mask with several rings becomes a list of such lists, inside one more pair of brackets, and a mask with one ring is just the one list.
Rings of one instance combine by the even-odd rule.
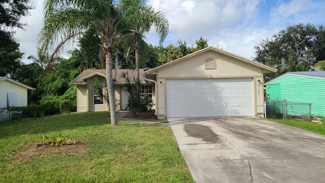
[[[276, 87], [280, 85], [280, 93]], [[305, 76], [285, 75], [266, 85], [272, 100], [280, 95], [280, 99], [288, 102], [312, 103], [312, 115], [325, 116], [325, 79]]]

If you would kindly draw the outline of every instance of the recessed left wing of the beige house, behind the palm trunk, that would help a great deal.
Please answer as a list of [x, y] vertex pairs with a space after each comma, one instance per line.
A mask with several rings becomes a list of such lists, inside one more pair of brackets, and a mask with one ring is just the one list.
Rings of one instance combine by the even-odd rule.
[[[112, 70], [112, 76], [114, 78], [113, 93], [115, 97], [115, 110], [125, 110], [127, 105], [127, 92], [125, 87], [123, 87], [123, 84], [125, 84], [125, 79], [122, 77], [122, 74], [125, 72], [128, 72], [131, 78], [134, 77], [135, 73], [133, 70], [119, 69], [115, 78], [115, 70]], [[143, 69], [141, 69], [140, 80], [144, 82], [143, 92], [146, 92], [146, 95], [150, 95], [154, 101], [154, 85], [153, 83], [145, 82], [143, 72]], [[95, 77], [99, 78], [104, 85], [106, 82], [106, 70], [84, 70], [71, 82], [72, 85], [77, 85], [77, 112], [109, 110], [109, 105], [107, 102], [105, 100], [101, 101], [99, 96], [96, 96], [93, 92], [93, 80]]]

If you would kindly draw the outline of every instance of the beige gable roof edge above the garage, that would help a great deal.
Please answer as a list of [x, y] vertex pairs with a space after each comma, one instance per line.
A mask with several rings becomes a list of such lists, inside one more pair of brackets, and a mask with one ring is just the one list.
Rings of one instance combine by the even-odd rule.
[[216, 51], [216, 52], [219, 52], [223, 55], [227, 55], [227, 56], [230, 56], [230, 57], [233, 57], [233, 58], [236, 58], [236, 59], [239, 59], [241, 60], [242, 62], [245, 62], [245, 63], [248, 63], [248, 64], [251, 64], [251, 65], [254, 65], [254, 66], [257, 66], [257, 67], [260, 67], [264, 70], [264, 73], [273, 73], [273, 72], [277, 72], [277, 69], [274, 69], [272, 67], [269, 67], [269, 66], [266, 66], [264, 64], [261, 64], [261, 63], [257, 63], [257, 62], [254, 62], [253, 60], [250, 60], [250, 59], [247, 59], [247, 58], [244, 58], [242, 56], [239, 56], [239, 55], [236, 55], [234, 53], [231, 53], [231, 52], [228, 52], [228, 51], [224, 51], [222, 49], [219, 49], [219, 48], [216, 48], [216, 47], [213, 47], [213, 46], [209, 46], [207, 48], [203, 48], [199, 51], [196, 51], [196, 52], [193, 52], [193, 53], [190, 53], [188, 55], [185, 55], [183, 57], [180, 57], [178, 59], [175, 59], [173, 60], [172, 62], [169, 62], [169, 63], [166, 63], [164, 65], [161, 65], [161, 66], [158, 66], [158, 67], [155, 67], [153, 69], [150, 69], [148, 71], [145, 71], [144, 73], [145, 74], [154, 74], [155, 71], [159, 70], [159, 69], [162, 69], [162, 68], [165, 68], [165, 67], [168, 67], [170, 65], [173, 65], [175, 63], [178, 63], [178, 62], [181, 62], [182, 60], [186, 59], [186, 58], [189, 58], [189, 57], [192, 57], [192, 56], [195, 56], [195, 55], [198, 55], [198, 54], [201, 54], [203, 52], [206, 52], [208, 50], [213, 50], [213, 51]]

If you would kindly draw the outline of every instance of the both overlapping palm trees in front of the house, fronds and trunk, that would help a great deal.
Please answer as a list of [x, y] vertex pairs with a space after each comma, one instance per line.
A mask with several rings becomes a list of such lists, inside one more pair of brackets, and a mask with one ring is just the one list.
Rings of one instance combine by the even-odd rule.
[[44, 52], [53, 51], [53, 58], [68, 43], [84, 35], [101, 39], [101, 51], [105, 55], [106, 82], [108, 89], [111, 124], [117, 125], [112, 82], [112, 54], [119, 39], [132, 43], [136, 50], [139, 70], [139, 52], [143, 38], [155, 27], [160, 43], [168, 34], [168, 20], [161, 12], [144, 0], [45, 0], [44, 27], [39, 33], [39, 44]]

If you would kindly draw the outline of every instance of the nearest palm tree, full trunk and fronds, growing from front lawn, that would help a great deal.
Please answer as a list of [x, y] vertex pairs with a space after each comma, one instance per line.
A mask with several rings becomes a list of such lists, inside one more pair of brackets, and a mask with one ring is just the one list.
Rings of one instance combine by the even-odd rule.
[[53, 49], [50, 62], [64, 45], [80, 38], [86, 32], [101, 39], [105, 54], [111, 125], [117, 126], [112, 83], [112, 53], [122, 36], [135, 33], [123, 21], [120, 9], [113, 0], [45, 0], [44, 27], [39, 33], [42, 50]]

